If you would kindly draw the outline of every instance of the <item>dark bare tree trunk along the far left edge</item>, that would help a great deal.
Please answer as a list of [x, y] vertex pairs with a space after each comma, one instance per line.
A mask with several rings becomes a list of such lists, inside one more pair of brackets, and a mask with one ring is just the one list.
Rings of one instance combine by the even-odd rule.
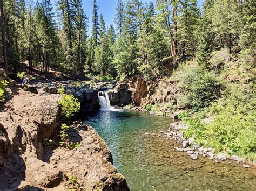
[[2, 43], [3, 43], [3, 59], [4, 59], [4, 69], [8, 73], [8, 63], [7, 63], [7, 48], [5, 39], [5, 23], [4, 23], [4, 10], [3, 10], [3, 0], [0, 0], [1, 6], [1, 24], [2, 24]]

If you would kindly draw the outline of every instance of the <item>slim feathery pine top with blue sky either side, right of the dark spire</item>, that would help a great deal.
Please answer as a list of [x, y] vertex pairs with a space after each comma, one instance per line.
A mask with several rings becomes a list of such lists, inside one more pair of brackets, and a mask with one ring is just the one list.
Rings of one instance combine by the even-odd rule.
[[116, 11], [117, 13], [114, 16], [114, 23], [116, 24], [117, 33], [122, 35], [125, 20], [125, 4], [122, 0], [118, 0]]

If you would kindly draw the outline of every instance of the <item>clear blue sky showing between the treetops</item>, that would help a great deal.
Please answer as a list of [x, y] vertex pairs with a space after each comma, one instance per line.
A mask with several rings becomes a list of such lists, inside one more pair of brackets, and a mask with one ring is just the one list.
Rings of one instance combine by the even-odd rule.
[[[55, 2], [55, 0], [52, 0]], [[118, 0], [96, 0], [99, 9], [98, 9], [98, 15], [100, 16], [100, 13], [102, 13], [103, 18], [105, 20], [106, 25], [110, 25], [113, 23], [114, 15], [116, 14], [116, 5]], [[142, 0], [142, 2], [151, 2], [154, 0]], [[124, 2], [126, 2], [124, 0]], [[201, 4], [204, 2], [204, 0], [199, 0], [198, 5], [201, 6]], [[82, 0], [84, 11], [89, 18], [89, 34], [91, 34], [91, 19], [92, 19], [92, 6], [93, 6], [93, 0]], [[54, 4], [54, 3], [53, 3]]]

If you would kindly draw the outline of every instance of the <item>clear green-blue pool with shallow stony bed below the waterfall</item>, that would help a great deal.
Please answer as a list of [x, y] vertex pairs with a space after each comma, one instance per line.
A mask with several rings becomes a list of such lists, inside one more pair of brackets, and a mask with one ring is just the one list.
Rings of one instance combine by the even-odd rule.
[[192, 160], [185, 152], [174, 151], [179, 143], [158, 136], [167, 131], [170, 118], [105, 110], [86, 117], [85, 123], [105, 140], [114, 166], [131, 190], [256, 190], [255, 166], [248, 169], [202, 156]]

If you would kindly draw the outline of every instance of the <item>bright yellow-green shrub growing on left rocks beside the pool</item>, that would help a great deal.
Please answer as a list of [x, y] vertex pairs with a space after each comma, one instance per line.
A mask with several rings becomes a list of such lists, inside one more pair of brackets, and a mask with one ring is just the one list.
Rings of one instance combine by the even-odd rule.
[[58, 101], [62, 108], [62, 116], [64, 119], [69, 119], [79, 112], [80, 102], [73, 95], [64, 94], [64, 87], [59, 90], [59, 94], [62, 95], [62, 99]]

